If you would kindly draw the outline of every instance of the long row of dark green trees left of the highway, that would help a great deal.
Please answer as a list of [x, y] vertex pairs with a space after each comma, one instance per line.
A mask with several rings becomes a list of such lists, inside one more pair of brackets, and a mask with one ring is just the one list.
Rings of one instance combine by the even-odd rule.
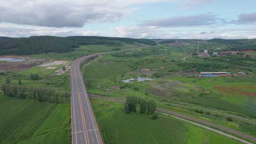
[[70, 92], [58, 91], [51, 88], [30, 87], [12, 84], [2, 84], [1, 90], [8, 97], [18, 99], [36, 99], [50, 103], [64, 103], [70, 99]]

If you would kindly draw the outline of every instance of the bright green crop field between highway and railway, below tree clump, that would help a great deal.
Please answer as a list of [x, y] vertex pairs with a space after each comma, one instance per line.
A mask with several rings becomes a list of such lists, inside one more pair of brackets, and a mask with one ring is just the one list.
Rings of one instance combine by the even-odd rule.
[[91, 99], [91, 104], [107, 144], [240, 144], [172, 117], [125, 114], [122, 104], [101, 99]]

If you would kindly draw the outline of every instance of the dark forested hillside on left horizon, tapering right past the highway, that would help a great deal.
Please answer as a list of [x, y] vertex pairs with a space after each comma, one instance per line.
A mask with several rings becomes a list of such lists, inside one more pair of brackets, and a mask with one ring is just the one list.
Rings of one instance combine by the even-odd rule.
[[21, 38], [0, 37], [0, 55], [66, 53], [79, 45], [122, 45], [122, 43], [155, 45], [150, 39], [133, 39], [101, 36], [30, 36]]

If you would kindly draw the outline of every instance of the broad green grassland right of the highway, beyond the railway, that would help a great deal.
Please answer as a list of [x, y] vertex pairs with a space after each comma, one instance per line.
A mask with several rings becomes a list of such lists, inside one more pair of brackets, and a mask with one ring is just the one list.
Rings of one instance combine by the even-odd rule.
[[[159, 54], [144, 55], [141, 57], [114, 57], [111, 54], [107, 54], [83, 69], [84, 79], [89, 81], [88, 91], [91, 94], [114, 97], [137, 95], [161, 101], [185, 101], [256, 117], [256, 97], [252, 97], [252, 95], [256, 94], [256, 79], [253, 76], [249, 78], [248, 76], [223, 78], [188, 78], [181, 76], [181, 74], [176, 73], [183, 69], [177, 65], [177, 61], [187, 54], [179, 52], [179, 50], [170, 47], [159, 48], [158, 46], [155, 49], [154, 47], [149, 47], [147, 49], [125, 52], [125, 54], [140, 52], [151, 54], [151, 51], [159, 52]], [[161, 66], [165, 68], [161, 69]], [[141, 75], [140, 72], [136, 71], [141, 68], [159, 70], [159, 72], [163, 72], [165, 77], [160, 80], [154, 78], [155, 81], [151, 82], [135, 82], [130, 84], [131, 87], [122, 90], [105, 91], [113, 85], [123, 85], [124, 83], [121, 80], [130, 77], [136, 78], [137, 75]], [[145, 95], [145, 91], [155, 89], [155, 85], [163, 89], [161, 93], [164, 92], [164, 96], [155, 94], [159, 92], [148, 92], [149, 95]], [[134, 90], [134, 87], [137, 87], [138, 90]], [[235, 87], [238, 91], [218, 90], [216, 89], [217, 87], [227, 89]], [[205, 95], [204, 91], [210, 91], [211, 93]]]

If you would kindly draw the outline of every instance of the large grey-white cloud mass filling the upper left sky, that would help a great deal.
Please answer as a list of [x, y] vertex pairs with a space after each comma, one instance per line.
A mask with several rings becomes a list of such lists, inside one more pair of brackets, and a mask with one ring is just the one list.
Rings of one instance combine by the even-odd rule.
[[130, 4], [166, 0], [4, 0], [0, 23], [43, 27], [83, 27], [87, 23], [116, 22], [134, 8]]

